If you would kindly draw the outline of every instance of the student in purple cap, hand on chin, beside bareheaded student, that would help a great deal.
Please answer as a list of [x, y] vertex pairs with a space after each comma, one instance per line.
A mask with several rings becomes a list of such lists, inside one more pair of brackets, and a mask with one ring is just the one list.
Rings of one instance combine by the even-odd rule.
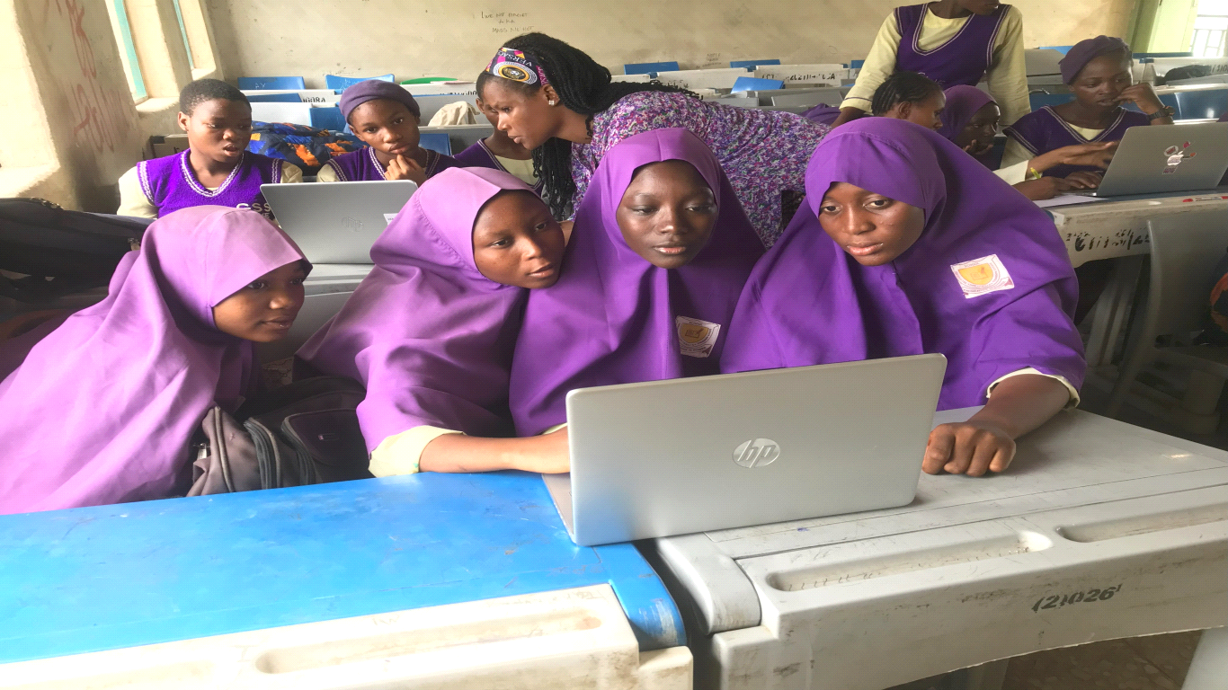
[[367, 147], [332, 158], [316, 182], [411, 179], [422, 184], [440, 171], [462, 167], [452, 156], [418, 145], [421, 109], [399, 83], [360, 81], [345, 90], [338, 106], [350, 131]]

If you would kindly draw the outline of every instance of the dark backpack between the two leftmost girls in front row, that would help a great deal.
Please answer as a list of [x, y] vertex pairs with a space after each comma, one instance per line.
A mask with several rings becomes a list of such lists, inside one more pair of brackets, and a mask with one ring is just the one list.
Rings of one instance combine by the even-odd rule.
[[193, 440], [188, 496], [370, 479], [355, 411], [365, 397], [351, 378], [322, 376], [258, 394], [235, 415], [214, 406]]

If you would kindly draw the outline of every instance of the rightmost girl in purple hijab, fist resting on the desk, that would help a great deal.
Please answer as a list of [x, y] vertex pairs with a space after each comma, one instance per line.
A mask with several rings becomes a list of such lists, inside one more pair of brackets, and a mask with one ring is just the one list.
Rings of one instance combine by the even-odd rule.
[[[1045, 211], [935, 131], [866, 118], [815, 150], [798, 214], [738, 303], [726, 372], [941, 352], [923, 469], [1002, 471], [1014, 438], [1078, 401], [1074, 271]], [[990, 394], [992, 393], [992, 397]]]

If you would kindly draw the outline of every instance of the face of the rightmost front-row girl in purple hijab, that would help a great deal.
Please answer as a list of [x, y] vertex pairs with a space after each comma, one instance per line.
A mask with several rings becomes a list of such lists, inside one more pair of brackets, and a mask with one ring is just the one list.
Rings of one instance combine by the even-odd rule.
[[819, 225], [863, 266], [894, 262], [925, 230], [925, 211], [837, 182], [823, 195]]

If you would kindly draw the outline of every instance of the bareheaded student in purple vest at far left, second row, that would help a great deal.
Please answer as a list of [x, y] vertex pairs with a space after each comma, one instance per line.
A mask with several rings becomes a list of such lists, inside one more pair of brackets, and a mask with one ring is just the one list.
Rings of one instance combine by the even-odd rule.
[[225, 81], [183, 87], [179, 128], [188, 133], [187, 151], [141, 161], [119, 178], [119, 215], [157, 219], [188, 206], [233, 206], [273, 219], [260, 185], [302, 182], [293, 163], [247, 150], [252, 106]]

